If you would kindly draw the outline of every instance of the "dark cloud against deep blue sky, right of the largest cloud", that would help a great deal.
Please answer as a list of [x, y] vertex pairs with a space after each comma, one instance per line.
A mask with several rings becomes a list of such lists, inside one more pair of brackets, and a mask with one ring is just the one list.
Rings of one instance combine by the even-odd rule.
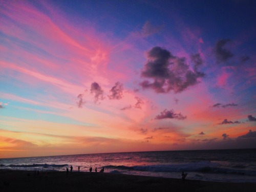
[[231, 42], [230, 39], [221, 39], [216, 43], [214, 53], [218, 62], [225, 62], [233, 57], [233, 53], [225, 48], [229, 42]]

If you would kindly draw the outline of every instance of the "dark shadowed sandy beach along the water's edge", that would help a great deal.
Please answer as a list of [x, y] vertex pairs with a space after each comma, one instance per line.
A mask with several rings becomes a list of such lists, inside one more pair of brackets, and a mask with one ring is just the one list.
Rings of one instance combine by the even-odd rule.
[[89, 172], [0, 170], [0, 191], [256, 191], [256, 183], [226, 183]]

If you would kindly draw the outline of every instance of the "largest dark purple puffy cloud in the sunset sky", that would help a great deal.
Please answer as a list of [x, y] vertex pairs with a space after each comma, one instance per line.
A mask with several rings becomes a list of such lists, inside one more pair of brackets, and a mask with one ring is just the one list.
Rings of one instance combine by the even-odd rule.
[[176, 57], [168, 50], [154, 47], [147, 52], [147, 62], [141, 71], [141, 77], [152, 79], [140, 83], [143, 89], [153, 89], [156, 93], [182, 92], [188, 87], [199, 83], [199, 78], [204, 77], [199, 72], [203, 61], [199, 54], [191, 55], [195, 63], [194, 70], [190, 70], [185, 57]]

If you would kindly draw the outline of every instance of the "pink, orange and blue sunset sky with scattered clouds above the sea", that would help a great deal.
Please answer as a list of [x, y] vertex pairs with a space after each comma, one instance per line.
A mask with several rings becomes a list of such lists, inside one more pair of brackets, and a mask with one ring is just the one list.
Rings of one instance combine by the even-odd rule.
[[255, 1], [0, 1], [0, 158], [256, 146]]

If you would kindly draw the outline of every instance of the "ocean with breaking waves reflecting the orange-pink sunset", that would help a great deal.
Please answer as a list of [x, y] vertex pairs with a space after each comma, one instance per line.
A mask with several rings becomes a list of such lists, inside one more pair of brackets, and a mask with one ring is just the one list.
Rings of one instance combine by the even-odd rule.
[[256, 149], [162, 151], [0, 159], [0, 169], [89, 172], [256, 183]]

